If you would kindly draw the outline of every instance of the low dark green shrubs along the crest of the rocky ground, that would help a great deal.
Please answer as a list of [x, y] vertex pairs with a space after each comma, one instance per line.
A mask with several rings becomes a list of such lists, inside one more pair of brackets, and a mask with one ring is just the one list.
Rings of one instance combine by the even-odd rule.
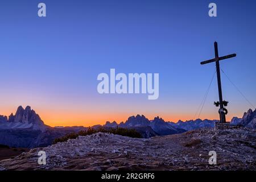
[[52, 144], [56, 144], [58, 142], [65, 142], [68, 139], [76, 139], [78, 136], [92, 135], [98, 132], [112, 133], [115, 135], [122, 135], [132, 138], [142, 138], [141, 134], [135, 129], [126, 129], [122, 127], [115, 127], [111, 129], [105, 129], [104, 127], [100, 127], [99, 129], [93, 129], [92, 127], [88, 127], [87, 130], [81, 130], [79, 131], [79, 133], [69, 133], [64, 137], [56, 138], [53, 140]]

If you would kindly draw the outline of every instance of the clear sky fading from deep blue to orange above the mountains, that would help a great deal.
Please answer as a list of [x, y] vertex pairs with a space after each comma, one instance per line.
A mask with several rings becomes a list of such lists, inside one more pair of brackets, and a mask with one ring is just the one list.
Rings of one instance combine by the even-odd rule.
[[[47, 17], [38, 17], [38, 3]], [[208, 16], [210, 2], [217, 18]], [[221, 68], [256, 105], [256, 1], [1, 1], [0, 114], [30, 105], [47, 125], [95, 125], [130, 115], [193, 119], [219, 55]], [[98, 94], [97, 75], [159, 73], [159, 98]], [[228, 120], [251, 106], [222, 75]], [[214, 77], [200, 118], [218, 119]], [[253, 108], [251, 108], [253, 109]]]

